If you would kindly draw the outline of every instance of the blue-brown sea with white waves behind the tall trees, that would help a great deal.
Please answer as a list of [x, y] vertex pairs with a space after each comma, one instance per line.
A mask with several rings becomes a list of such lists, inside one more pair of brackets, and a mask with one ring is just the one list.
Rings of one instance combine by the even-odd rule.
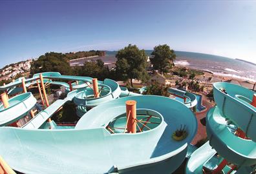
[[[153, 50], [145, 50], [148, 56], [151, 55]], [[116, 62], [116, 51], [107, 51], [105, 56], [94, 57], [90, 60], [101, 59], [105, 64], [114, 66]], [[176, 59], [175, 65], [186, 66], [197, 70], [204, 70], [211, 72], [215, 75], [222, 75], [226, 77], [233, 77], [241, 79], [242, 81], [256, 82], [256, 65], [246, 63], [237, 59], [230, 59], [218, 55], [210, 55], [206, 53], [195, 52], [180, 52], [175, 51]], [[88, 59], [80, 59], [73, 65], [81, 65]], [[111, 67], [112, 67], [111, 66]]]

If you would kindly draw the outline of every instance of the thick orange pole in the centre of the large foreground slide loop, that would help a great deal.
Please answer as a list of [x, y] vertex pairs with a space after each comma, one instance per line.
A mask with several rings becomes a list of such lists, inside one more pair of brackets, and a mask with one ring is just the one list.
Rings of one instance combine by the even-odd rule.
[[136, 101], [126, 101], [126, 117], [128, 133], [136, 133]]

